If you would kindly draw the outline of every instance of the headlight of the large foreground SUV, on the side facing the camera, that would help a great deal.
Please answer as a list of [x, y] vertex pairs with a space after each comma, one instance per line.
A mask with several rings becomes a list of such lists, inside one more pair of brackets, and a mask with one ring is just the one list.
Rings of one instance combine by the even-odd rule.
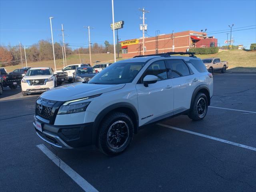
[[60, 107], [58, 111], [58, 115], [83, 112], [86, 110], [86, 108], [90, 104], [90, 102], [84, 102], [84, 103], [78, 103], [78, 104], [68, 103], [67, 105], [65, 105], [65, 103]]

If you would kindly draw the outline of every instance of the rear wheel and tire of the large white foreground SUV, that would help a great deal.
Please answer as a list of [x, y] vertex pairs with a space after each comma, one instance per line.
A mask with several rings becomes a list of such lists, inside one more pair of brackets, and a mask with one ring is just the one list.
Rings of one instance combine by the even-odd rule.
[[192, 103], [188, 117], [195, 121], [202, 120], [208, 110], [208, 99], [204, 93], [198, 93]]

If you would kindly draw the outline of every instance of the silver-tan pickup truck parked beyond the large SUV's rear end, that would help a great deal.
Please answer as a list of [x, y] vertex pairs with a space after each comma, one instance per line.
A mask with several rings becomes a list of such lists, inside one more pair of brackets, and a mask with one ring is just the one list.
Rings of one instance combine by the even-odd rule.
[[202, 61], [210, 73], [218, 70], [221, 70], [222, 73], [225, 73], [226, 69], [228, 68], [228, 62], [221, 61], [220, 58], [206, 58]]

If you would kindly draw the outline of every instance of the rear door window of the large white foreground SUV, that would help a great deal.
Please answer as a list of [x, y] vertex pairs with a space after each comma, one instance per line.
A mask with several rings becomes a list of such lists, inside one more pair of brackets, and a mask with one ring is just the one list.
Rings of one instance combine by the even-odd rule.
[[171, 72], [168, 72], [168, 78], [177, 78], [190, 75], [188, 66], [183, 60], [167, 60], [166, 67], [171, 69]]

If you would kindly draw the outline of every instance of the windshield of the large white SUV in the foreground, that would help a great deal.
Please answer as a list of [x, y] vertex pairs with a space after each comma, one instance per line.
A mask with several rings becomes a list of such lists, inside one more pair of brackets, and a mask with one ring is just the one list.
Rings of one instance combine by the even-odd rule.
[[100, 73], [98, 73], [94, 78], [92, 78], [88, 83], [94, 84], [122, 84], [130, 83], [138, 72], [145, 65], [144, 62], [134, 62], [134, 63], [114, 63]]

